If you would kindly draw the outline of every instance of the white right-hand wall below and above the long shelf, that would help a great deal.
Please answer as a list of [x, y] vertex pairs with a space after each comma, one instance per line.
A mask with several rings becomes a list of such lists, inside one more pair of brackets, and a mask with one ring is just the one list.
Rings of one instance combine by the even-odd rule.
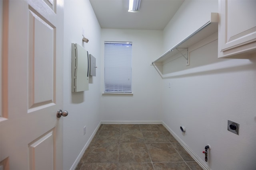
[[[165, 49], [202, 26], [210, 12], [218, 12], [218, 1], [185, 1], [164, 29]], [[196, 18], [195, 23], [184, 27], [184, 20], [192, 18]], [[212, 37], [217, 39], [216, 34]], [[210, 41], [212, 37], [204, 40], [207, 42], [204, 46], [190, 52], [190, 66], [184, 69], [182, 57], [166, 65], [170, 68], [181, 65], [181, 69], [163, 80], [162, 119], [208, 168], [253, 170], [256, 167], [256, 56], [218, 59], [218, 40]], [[239, 135], [227, 130], [228, 120], [240, 123]], [[186, 126], [185, 134], [180, 131], [180, 125]], [[212, 147], [208, 162], [202, 154], [206, 144]]]

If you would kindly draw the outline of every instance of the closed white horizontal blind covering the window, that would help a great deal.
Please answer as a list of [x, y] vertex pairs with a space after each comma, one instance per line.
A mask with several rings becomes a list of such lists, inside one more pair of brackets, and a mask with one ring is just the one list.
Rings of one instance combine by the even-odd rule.
[[132, 43], [105, 41], [105, 92], [132, 92]]

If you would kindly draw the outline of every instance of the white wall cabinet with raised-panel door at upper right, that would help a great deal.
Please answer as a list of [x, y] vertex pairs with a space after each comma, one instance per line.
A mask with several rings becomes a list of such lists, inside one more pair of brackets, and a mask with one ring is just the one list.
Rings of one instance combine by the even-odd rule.
[[256, 53], [256, 0], [219, 0], [218, 57]]

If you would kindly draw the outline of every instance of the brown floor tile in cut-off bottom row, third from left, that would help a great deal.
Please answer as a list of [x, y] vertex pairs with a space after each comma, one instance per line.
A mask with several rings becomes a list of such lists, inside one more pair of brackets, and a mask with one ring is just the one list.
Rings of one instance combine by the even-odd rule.
[[153, 166], [154, 170], [190, 170], [185, 162], [158, 162]]

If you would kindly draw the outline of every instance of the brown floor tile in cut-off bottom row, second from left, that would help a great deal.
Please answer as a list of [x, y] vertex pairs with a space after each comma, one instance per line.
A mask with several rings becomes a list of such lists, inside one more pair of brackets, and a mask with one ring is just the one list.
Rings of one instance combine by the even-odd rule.
[[154, 168], [152, 163], [149, 163], [149, 162], [142, 162], [142, 163], [126, 162], [126, 163], [119, 163], [118, 170], [154, 170]]

